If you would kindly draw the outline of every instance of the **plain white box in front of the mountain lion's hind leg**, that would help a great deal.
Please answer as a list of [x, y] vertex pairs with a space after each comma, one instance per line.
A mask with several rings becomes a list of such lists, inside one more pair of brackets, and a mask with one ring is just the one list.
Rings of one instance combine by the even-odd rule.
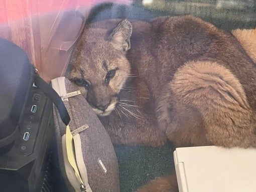
[[176, 148], [174, 162], [180, 192], [256, 192], [255, 148]]

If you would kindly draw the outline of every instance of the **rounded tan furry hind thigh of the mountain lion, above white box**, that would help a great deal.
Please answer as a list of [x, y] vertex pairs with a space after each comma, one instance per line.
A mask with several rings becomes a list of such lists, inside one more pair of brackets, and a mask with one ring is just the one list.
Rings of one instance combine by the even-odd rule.
[[[188, 62], [175, 73], [169, 85], [176, 106], [174, 118], [177, 120], [170, 124], [166, 134], [176, 146], [204, 144], [197, 141], [202, 137], [201, 132], [205, 133], [204, 140], [209, 144], [256, 146], [252, 110], [241, 84], [229, 70], [216, 62]], [[186, 114], [191, 108], [200, 114], [202, 126], [198, 126], [198, 121], [193, 125], [193, 121], [186, 124], [182, 120], [184, 116], [195, 116]], [[194, 131], [199, 127], [198, 131]], [[184, 141], [176, 139], [177, 135]]]

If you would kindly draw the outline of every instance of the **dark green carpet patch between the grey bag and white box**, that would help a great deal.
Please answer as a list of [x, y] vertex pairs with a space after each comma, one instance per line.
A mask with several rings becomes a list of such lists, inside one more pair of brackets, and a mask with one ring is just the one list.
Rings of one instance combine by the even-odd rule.
[[173, 147], [143, 147], [115, 145], [119, 163], [121, 192], [132, 192], [149, 180], [172, 173]]

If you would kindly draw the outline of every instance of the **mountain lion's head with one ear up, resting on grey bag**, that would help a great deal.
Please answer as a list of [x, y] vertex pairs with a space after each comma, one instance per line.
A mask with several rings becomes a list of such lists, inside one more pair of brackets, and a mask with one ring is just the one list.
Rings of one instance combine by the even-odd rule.
[[132, 25], [123, 20], [113, 30], [88, 28], [71, 56], [69, 80], [97, 115], [108, 115], [118, 103], [118, 94], [130, 74], [125, 55], [130, 49]]

